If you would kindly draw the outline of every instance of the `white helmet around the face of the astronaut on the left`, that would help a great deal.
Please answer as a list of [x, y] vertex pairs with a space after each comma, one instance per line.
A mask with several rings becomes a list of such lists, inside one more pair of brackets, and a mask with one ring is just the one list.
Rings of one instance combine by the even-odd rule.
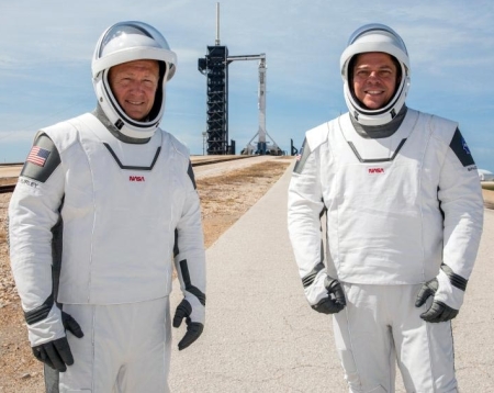
[[[122, 63], [151, 59], [160, 64], [160, 79], [155, 103], [145, 121], [136, 121], [120, 106], [108, 80], [111, 67]], [[151, 137], [165, 110], [165, 85], [175, 75], [177, 55], [153, 26], [136, 21], [120, 22], [101, 35], [92, 58], [92, 83], [98, 101], [112, 124], [130, 137]]]

